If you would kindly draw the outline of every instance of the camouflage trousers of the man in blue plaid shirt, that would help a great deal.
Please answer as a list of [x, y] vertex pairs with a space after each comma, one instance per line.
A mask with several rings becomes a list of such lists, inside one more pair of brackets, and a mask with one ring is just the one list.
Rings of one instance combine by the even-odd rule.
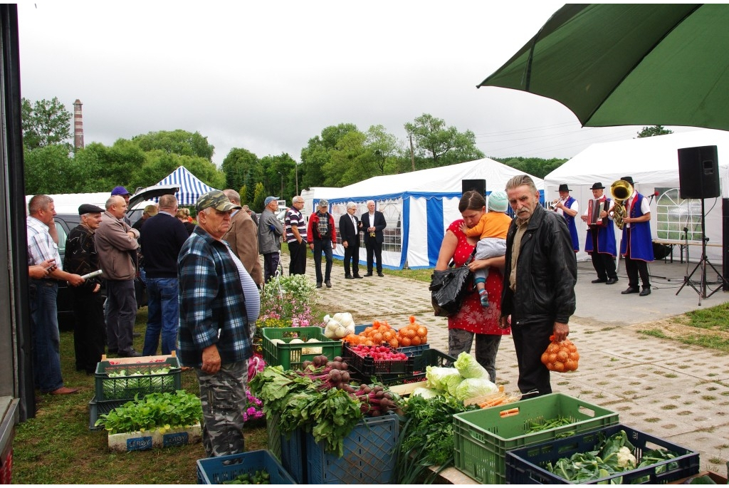
[[246, 411], [248, 361], [223, 364], [215, 374], [195, 368], [203, 404], [203, 446], [208, 457], [245, 452], [243, 412]]

